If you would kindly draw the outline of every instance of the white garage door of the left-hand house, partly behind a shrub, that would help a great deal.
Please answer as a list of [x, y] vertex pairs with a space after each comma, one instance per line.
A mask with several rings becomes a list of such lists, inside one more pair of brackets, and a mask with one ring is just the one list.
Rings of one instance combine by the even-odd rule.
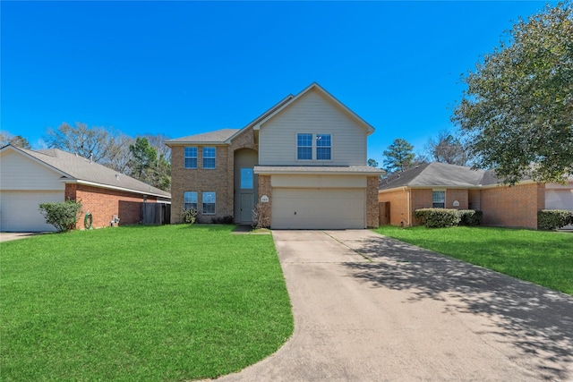
[[56, 231], [39, 212], [38, 205], [64, 201], [64, 191], [2, 191], [0, 192], [0, 231]]

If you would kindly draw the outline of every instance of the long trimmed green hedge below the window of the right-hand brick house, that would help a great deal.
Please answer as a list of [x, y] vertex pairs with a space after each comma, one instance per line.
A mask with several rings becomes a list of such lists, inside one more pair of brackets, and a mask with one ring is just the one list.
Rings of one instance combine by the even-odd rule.
[[474, 209], [420, 208], [414, 211], [414, 216], [429, 228], [440, 228], [481, 225], [483, 212]]

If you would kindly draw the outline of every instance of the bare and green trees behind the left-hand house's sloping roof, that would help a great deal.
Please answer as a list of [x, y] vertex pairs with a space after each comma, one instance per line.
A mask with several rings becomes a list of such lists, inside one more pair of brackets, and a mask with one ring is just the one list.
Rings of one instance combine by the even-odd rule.
[[[136, 138], [112, 127], [89, 127], [86, 123], [62, 123], [48, 129], [44, 141], [49, 149], [62, 149], [90, 158], [118, 173], [132, 176], [158, 189], [171, 188], [171, 149], [165, 145], [164, 134], [143, 134]], [[21, 135], [0, 133], [0, 145], [10, 143], [31, 149], [30, 142]]]

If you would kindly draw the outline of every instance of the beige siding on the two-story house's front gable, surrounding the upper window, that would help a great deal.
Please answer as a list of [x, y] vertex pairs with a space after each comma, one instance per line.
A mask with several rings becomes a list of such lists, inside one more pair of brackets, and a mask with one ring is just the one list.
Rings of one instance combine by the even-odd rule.
[[[331, 160], [296, 160], [296, 134], [331, 134]], [[322, 96], [310, 90], [284, 110], [261, 124], [260, 166], [365, 166], [366, 129]]]

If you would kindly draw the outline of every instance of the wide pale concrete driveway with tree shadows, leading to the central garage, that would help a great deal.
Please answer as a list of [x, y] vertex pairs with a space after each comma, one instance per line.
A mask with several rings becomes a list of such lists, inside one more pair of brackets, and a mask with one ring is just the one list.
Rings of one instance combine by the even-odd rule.
[[367, 230], [273, 231], [295, 334], [220, 381], [573, 380], [573, 297]]

